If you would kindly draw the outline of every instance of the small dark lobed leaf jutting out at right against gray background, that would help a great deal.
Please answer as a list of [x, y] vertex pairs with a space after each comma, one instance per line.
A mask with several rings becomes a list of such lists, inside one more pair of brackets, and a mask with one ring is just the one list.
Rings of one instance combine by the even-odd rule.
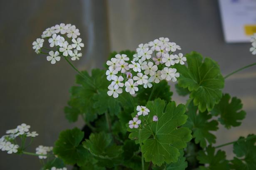
[[241, 110], [243, 104], [241, 100], [232, 97], [231, 102], [229, 103], [231, 97], [229, 94], [222, 96], [219, 104], [216, 104], [214, 109], [211, 111], [215, 116], [220, 115], [219, 121], [221, 124], [225, 125], [227, 129], [230, 129], [231, 126], [240, 126], [241, 121], [245, 118], [246, 112]]

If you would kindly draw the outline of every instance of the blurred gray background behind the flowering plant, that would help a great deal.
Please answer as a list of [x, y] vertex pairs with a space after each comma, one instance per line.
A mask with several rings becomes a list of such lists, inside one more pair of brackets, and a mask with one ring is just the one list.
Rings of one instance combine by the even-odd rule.
[[[32, 49], [32, 42], [47, 27], [75, 24], [85, 43], [80, 70], [102, 68], [110, 51], [134, 50], [161, 36], [169, 37], [182, 53], [198, 51], [217, 61], [224, 75], [256, 62], [250, 44], [226, 44], [217, 0], [0, 0], [0, 135], [27, 123], [40, 135], [30, 147], [53, 146], [61, 130], [78, 126], [65, 119], [63, 108], [75, 71], [64, 61], [51, 65]], [[174, 84], [171, 84], [174, 90]], [[226, 79], [224, 92], [239, 97], [247, 112], [242, 126], [220, 126], [217, 143], [255, 133], [256, 67]], [[186, 97], [174, 94], [184, 103]], [[232, 146], [222, 148], [232, 158]], [[0, 151], [1, 170], [37, 170], [38, 158]]]

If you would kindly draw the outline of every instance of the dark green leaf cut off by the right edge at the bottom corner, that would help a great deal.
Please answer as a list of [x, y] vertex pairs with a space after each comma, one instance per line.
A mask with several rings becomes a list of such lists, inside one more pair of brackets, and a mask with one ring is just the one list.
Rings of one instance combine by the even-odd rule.
[[234, 170], [255, 170], [256, 169], [256, 136], [250, 134], [245, 140], [240, 137], [233, 145], [233, 152], [237, 157], [231, 160], [231, 168]]

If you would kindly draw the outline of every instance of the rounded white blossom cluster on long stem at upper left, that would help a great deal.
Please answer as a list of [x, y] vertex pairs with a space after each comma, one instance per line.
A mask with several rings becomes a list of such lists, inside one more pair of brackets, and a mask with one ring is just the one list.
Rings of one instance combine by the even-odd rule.
[[[50, 28], [47, 28], [42, 33], [42, 39], [38, 38], [32, 43], [33, 49], [36, 53], [42, 52], [42, 49], [47, 51], [47, 61], [51, 61], [55, 64], [56, 61], [60, 61], [62, 56], [70, 56], [72, 61], [79, 60], [82, 57], [82, 53], [79, 51], [85, 44], [82, 43], [82, 39], [79, 38], [80, 32], [75, 25], [71, 24], [56, 24]], [[51, 49], [46, 48], [44, 42], [49, 42]], [[45, 53], [45, 54], [47, 54]]]

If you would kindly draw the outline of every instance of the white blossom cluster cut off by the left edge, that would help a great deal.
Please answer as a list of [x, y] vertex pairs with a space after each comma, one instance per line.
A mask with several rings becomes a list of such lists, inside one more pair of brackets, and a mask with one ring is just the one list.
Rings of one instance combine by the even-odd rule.
[[38, 136], [36, 131], [29, 131], [30, 126], [21, 124], [15, 129], [6, 131], [6, 135], [0, 138], [0, 150], [7, 151], [7, 153], [17, 153], [19, 145], [17, 145], [15, 138], [18, 136], [35, 137]]

